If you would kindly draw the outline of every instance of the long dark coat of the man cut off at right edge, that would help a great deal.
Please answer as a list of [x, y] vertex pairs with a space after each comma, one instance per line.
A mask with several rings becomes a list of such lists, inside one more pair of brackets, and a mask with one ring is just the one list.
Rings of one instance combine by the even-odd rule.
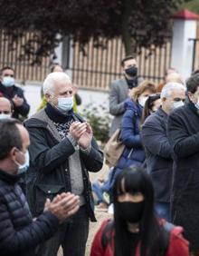
[[199, 113], [193, 103], [170, 114], [168, 139], [174, 151], [172, 219], [185, 228], [191, 248], [199, 250]]

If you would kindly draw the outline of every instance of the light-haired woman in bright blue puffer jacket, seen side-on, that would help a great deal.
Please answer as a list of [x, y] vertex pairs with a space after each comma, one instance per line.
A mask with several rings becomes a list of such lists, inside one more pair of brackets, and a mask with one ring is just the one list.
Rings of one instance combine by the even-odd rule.
[[141, 166], [145, 162], [145, 151], [140, 136], [140, 120], [143, 107], [150, 94], [156, 93], [156, 85], [144, 81], [132, 89], [130, 98], [125, 102], [125, 113], [121, 122], [120, 140], [125, 144], [118, 164], [114, 168], [111, 188], [119, 172], [130, 165]]

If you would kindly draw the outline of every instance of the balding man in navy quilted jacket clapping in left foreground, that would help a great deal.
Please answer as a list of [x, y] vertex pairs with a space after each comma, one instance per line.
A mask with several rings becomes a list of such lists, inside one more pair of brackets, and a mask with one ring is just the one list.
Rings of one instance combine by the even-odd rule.
[[0, 120], [0, 254], [33, 256], [39, 243], [49, 239], [79, 209], [79, 197], [57, 196], [45, 203], [44, 212], [33, 220], [18, 184], [28, 166], [29, 135], [14, 119]]

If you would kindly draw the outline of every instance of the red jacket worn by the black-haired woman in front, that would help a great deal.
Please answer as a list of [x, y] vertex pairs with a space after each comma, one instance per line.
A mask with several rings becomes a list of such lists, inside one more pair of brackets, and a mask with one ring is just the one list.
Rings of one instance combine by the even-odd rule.
[[[103, 222], [100, 226], [100, 230], [96, 233], [92, 241], [90, 256], [113, 256], [111, 246], [108, 245], [105, 250], [103, 250], [101, 246], [101, 235], [107, 223], [108, 221]], [[183, 228], [181, 227], [175, 227], [173, 231], [171, 231], [166, 256], [189, 256], [189, 242], [183, 238], [182, 232]], [[136, 256], [139, 255], [139, 251], [137, 250]]]

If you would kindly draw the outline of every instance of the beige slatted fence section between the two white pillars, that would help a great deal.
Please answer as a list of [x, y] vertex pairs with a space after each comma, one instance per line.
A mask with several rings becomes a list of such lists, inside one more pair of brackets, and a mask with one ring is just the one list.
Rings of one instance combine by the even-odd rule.
[[[171, 39], [167, 37], [166, 44], [161, 47], [137, 49], [140, 76], [156, 84], [163, 80], [166, 68], [170, 66]], [[79, 44], [73, 45], [73, 61], [71, 65], [68, 62], [67, 69], [72, 71], [72, 80], [80, 87], [107, 91], [110, 82], [122, 76], [120, 61], [124, 56], [125, 50], [120, 38], [109, 40], [106, 47], [98, 48], [90, 40], [83, 51]]]

